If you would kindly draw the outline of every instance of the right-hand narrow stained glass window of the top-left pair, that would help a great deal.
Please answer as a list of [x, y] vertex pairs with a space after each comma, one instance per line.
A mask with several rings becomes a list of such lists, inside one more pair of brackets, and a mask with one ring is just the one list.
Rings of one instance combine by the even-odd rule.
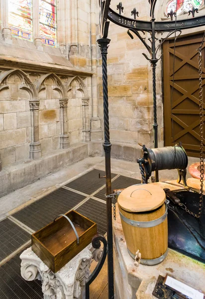
[[39, 0], [40, 36], [42, 43], [56, 46], [56, 0]]

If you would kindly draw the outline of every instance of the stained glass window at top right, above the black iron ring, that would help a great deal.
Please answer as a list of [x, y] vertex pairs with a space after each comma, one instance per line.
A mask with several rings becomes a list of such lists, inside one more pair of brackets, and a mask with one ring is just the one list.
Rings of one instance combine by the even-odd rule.
[[[177, 11], [177, 14], [192, 10], [193, 6], [199, 8], [203, 0], [171, 0], [167, 5], [167, 13], [171, 10]], [[177, 5], [177, 6], [176, 6]]]

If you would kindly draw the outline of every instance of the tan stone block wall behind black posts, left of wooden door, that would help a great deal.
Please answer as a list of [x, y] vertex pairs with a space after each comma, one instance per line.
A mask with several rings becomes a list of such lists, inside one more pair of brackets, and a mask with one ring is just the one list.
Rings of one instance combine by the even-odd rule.
[[[116, 10], [117, 0], [111, 1], [111, 8]], [[131, 17], [134, 7], [139, 11], [140, 19], [149, 19], [148, 1], [124, 1], [122, 15]], [[137, 36], [132, 40], [127, 29], [110, 22], [108, 38], [111, 39], [107, 55], [108, 96], [111, 141], [147, 146], [153, 145], [153, 101], [152, 70], [149, 62], [142, 55], [145, 47]], [[102, 68], [101, 56], [98, 52], [98, 94], [99, 115], [102, 110]], [[160, 66], [159, 66], [160, 68]], [[157, 77], [159, 144], [163, 144], [161, 78]]]

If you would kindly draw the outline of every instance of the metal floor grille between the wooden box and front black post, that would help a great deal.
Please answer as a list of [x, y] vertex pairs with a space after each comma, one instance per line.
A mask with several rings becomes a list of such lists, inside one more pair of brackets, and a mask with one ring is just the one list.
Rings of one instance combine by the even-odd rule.
[[96, 222], [98, 233], [102, 235], [106, 233], [106, 205], [103, 202], [90, 198], [77, 209], [77, 212]]

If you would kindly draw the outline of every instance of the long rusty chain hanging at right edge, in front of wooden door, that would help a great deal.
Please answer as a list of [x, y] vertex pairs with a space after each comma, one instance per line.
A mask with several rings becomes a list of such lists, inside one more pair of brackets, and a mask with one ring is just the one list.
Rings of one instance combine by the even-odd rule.
[[184, 203], [179, 203], [182, 209], [184, 209], [190, 215], [200, 218], [202, 215], [203, 208], [203, 187], [204, 187], [204, 145], [203, 145], [203, 135], [204, 135], [204, 103], [203, 103], [203, 86], [202, 86], [202, 47], [205, 41], [205, 32], [201, 46], [199, 47], [199, 106], [200, 106], [200, 201], [199, 201], [199, 212], [195, 214], [191, 212]]

